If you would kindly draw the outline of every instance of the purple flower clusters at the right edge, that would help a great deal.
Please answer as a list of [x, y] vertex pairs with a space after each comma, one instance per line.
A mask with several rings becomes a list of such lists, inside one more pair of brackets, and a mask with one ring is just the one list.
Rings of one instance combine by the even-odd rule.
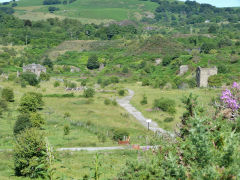
[[238, 111], [240, 109], [240, 84], [234, 82], [231, 89], [222, 92], [221, 101], [224, 107]]

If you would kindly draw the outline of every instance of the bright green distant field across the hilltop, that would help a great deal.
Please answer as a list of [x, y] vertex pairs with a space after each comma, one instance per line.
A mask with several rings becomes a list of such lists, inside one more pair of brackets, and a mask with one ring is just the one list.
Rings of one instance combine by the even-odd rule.
[[67, 5], [49, 5], [60, 10], [49, 13], [43, 0], [19, 0], [15, 15], [32, 20], [51, 17], [76, 18], [84, 23], [102, 23], [112, 20], [136, 20], [154, 12], [156, 3], [139, 0], [77, 0]]

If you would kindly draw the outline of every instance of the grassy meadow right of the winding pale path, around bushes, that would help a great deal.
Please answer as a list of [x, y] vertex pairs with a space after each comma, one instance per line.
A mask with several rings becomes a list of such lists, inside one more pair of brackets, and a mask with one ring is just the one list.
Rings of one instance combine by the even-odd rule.
[[[184, 96], [188, 96], [190, 93], [197, 95], [199, 104], [202, 107], [208, 107], [206, 108], [208, 113], [213, 113], [213, 108], [210, 105], [211, 99], [216, 97], [220, 90], [219, 89], [186, 89], [186, 90], [180, 90], [180, 89], [169, 89], [169, 90], [163, 90], [163, 89], [157, 89], [157, 88], [151, 88], [149, 86], [141, 86], [141, 83], [126, 85], [127, 88], [134, 90], [135, 96], [133, 97], [131, 103], [140, 110], [143, 115], [147, 118], [151, 118], [153, 121], [156, 121], [159, 126], [163, 129], [173, 131], [176, 127], [176, 124], [180, 122], [180, 118], [185, 111], [184, 104], [182, 103], [181, 99]], [[140, 101], [143, 98], [143, 95], [147, 96], [148, 104], [141, 105]], [[163, 111], [154, 111], [153, 103], [155, 99], [160, 98], [169, 98], [171, 100], [174, 100], [176, 102], [176, 114], [171, 115], [167, 112]], [[174, 121], [172, 122], [165, 122], [164, 119], [167, 117], [173, 117]]]

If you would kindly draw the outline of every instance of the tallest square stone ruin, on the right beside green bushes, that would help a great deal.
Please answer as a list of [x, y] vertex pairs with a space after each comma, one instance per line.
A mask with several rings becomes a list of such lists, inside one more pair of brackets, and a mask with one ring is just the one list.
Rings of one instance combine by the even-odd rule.
[[213, 75], [217, 75], [218, 69], [214, 68], [201, 68], [198, 67], [196, 71], [196, 80], [198, 87], [207, 87], [208, 86], [208, 78]]

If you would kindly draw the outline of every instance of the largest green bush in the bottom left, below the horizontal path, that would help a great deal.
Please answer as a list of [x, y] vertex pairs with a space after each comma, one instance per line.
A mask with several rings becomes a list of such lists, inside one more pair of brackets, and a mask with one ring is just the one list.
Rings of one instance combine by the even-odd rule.
[[50, 164], [43, 133], [34, 128], [26, 129], [16, 141], [13, 149], [15, 175], [46, 178]]

